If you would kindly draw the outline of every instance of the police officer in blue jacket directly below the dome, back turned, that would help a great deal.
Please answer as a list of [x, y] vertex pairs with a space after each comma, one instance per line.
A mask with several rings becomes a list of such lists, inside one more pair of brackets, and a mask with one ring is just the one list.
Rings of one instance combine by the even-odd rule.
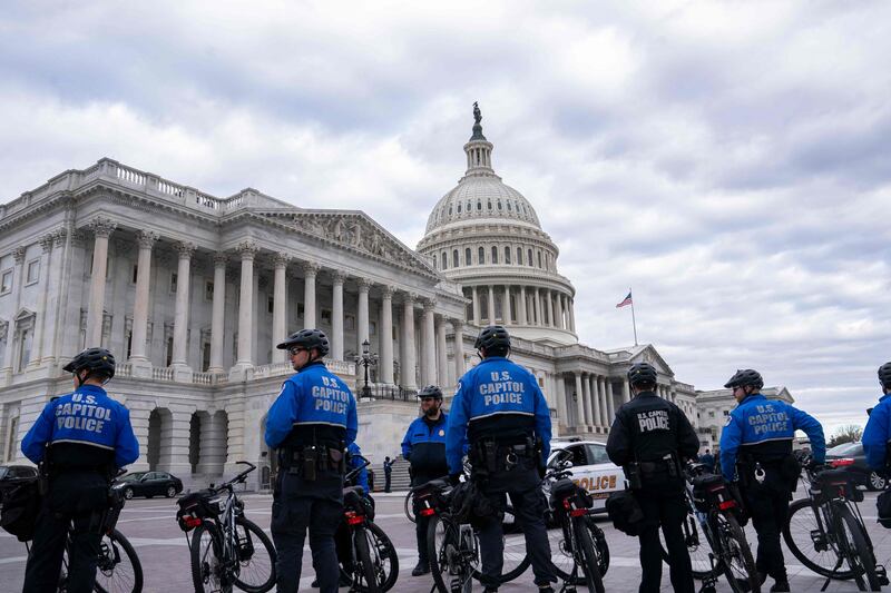
[[[496, 508], [505, 494], [522, 525], [535, 582], [552, 591], [550, 545], [545, 527], [547, 503], [541, 477], [550, 453], [550, 411], [536, 377], [508, 360], [510, 336], [500, 325], [480, 332], [476, 348], [481, 362], [459, 380], [446, 429], [446, 458], [453, 481], [461, 474], [464, 445], [473, 465], [471, 480]], [[497, 591], [503, 566], [500, 521], [480, 531], [486, 591]]]

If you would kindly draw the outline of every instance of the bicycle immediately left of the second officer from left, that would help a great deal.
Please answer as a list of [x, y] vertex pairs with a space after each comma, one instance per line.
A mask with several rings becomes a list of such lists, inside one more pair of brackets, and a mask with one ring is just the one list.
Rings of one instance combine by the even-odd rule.
[[[195, 591], [265, 593], [275, 586], [275, 547], [255, 523], [244, 516], [235, 484], [244, 484], [256, 465], [228, 482], [182, 497], [176, 520], [186, 532]], [[188, 532], [192, 533], [189, 540]], [[257, 550], [254, 542], [262, 544]], [[265, 552], [265, 553], [264, 553]]]

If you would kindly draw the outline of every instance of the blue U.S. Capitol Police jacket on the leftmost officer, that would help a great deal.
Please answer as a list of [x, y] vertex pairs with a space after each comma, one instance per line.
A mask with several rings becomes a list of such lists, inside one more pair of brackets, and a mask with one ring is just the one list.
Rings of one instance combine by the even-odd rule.
[[130, 413], [97, 385], [49, 402], [21, 442], [21, 452], [33, 463], [43, 461], [47, 445], [74, 443], [115, 453], [115, 465], [124, 467], [139, 457]]

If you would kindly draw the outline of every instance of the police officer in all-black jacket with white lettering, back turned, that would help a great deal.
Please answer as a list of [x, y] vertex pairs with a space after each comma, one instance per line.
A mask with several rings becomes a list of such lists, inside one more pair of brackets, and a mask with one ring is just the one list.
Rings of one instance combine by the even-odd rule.
[[616, 412], [606, 452], [625, 468], [644, 523], [640, 527], [640, 593], [659, 591], [662, 547], [659, 525], [668, 548], [672, 587], [693, 593], [689, 553], [681, 527], [687, 516], [684, 498], [684, 459], [695, 459], [699, 438], [687, 416], [655, 393], [653, 365], [637, 363], [628, 369], [635, 397]]

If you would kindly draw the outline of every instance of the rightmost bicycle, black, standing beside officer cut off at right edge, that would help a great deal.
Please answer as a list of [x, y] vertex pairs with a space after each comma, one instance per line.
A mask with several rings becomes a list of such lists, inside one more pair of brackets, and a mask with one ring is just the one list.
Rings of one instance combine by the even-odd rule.
[[[805, 463], [804, 475], [807, 497], [789, 506], [789, 520], [783, 526], [783, 538], [792, 554], [826, 577], [823, 591], [831, 580], [851, 579], [860, 591], [879, 591], [888, 584], [888, 575], [884, 566], [875, 562], [860, 514], [858, 503], [863, 501], [863, 492], [844, 468], [820, 471]], [[811, 552], [815, 553], [813, 557]]]

